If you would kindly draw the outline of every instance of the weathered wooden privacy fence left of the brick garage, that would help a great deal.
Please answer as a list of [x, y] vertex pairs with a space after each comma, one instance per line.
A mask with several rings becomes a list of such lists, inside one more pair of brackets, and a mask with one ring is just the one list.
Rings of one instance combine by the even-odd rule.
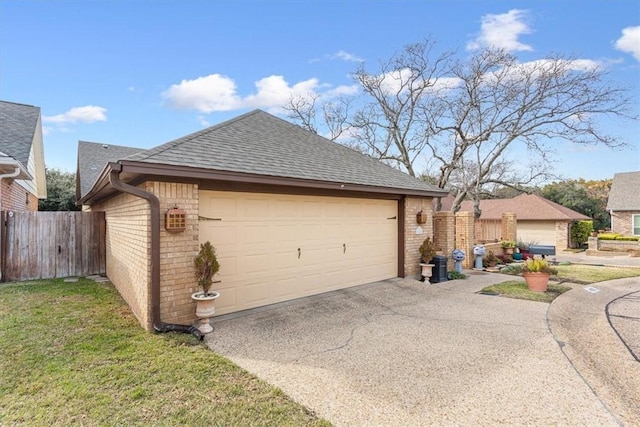
[[2, 281], [102, 274], [104, 212], [0, 212]]

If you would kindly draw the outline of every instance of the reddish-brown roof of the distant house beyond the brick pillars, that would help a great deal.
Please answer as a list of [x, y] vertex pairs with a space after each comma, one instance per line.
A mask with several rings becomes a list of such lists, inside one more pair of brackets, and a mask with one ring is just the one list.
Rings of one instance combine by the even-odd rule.
[[[473, 212], [473, 201], [462, 202], [461, 211]], [[511, 199], [480, 201], [480, 219], [501, 219], [504, 212], [516, 214], [522, 221], [578, 221], [589, 220], [586, 215], [559, 205], [536, 194], [521, 194]]]

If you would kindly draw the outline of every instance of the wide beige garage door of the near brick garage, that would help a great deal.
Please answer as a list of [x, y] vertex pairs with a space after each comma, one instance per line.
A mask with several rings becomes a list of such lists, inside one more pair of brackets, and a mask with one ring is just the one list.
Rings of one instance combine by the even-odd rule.
[[397, 215], [394, 200], [200, 191], [216, 313], [397, 277]]

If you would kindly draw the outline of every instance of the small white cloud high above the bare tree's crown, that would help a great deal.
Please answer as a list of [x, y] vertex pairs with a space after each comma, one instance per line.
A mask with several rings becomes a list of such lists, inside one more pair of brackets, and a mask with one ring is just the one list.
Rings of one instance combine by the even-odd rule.
[[501, 15], [484, 15], [480, 34], [467, 44], [467, 49], [495, 47], [507, 52], [533, 50], [531, 46], [518, 41], [521, 35], [532, 32], [525, 22], [526, 18], [527, 12], [518, 9], [512, 9]]

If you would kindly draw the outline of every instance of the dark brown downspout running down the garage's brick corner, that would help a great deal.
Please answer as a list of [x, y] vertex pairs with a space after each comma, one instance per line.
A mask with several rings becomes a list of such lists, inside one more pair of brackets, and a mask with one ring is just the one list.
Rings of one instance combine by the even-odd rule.
[[141, 190], [120, 181], [122, 165], [112, 164], [109, 183], [119, 191], [128, 193], [149, 202], [151, 210], [151, 322], [156, 332], [184, 332], [199, 340], [204, 336], [195, 326], [164, 323], [160, 319], [160, 201], [155, 194]]

